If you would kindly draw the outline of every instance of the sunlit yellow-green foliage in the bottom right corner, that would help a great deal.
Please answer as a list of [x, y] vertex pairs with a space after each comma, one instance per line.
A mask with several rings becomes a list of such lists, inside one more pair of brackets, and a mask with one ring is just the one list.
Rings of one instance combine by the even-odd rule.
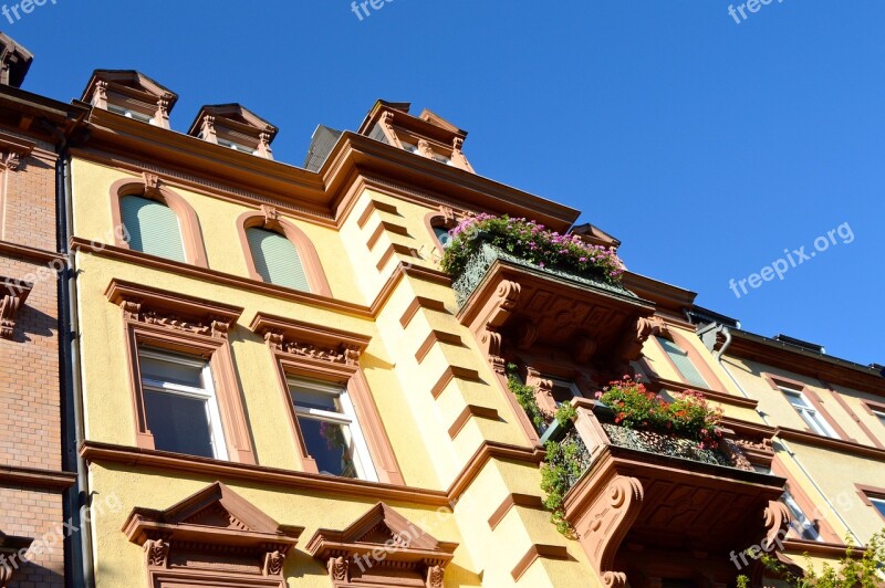
[[[796, 588], [877, 588], [885, 585], [885, 529], [873, 535], [860, 558], [852, 555], [854, 546], [850, 538], [845, 544], [845, 555], [835, 567], [824, 564], [815, 570], [805, 555], [805, 571], [801, 577], [769, 554], [762, 554], [761, 560], [772, 575]], [[749, 586], [749, 581], [747, 576], [738, 576], [739, 587]]]

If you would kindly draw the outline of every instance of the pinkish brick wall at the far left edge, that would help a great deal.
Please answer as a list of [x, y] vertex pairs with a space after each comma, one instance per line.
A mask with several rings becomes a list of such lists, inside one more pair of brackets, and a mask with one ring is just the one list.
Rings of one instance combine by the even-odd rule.
[[[54, 174], [53, 156], [40, 149], [23, 158], [18, 170], [0, 172], [3, 244], [55, 251]], [[0, 275], [34, 283], [12, 337], [0, 338], [0, 465], [7, 468], [62, 469], [58, 276], [48, 269], [49, 262], [9, 246], [0, 251]], [[62, 492], [38, 486], [0, 479], [0, 532], [35, 539], [59, 532]], [[30, 561], [15, 558], [7, 565], [18, 566], [11, 588], [64, 586], [60, 537]]]

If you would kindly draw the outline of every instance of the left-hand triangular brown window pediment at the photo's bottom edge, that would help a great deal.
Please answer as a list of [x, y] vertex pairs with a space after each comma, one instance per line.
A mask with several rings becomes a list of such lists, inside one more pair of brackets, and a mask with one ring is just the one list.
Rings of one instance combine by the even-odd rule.
[[284, 587], [285, 556], [304, 527], [280, 525], [216, 482], [165, 511], [134, 508], [123, 531], [145, 549], [150, 587], [207, 579]]

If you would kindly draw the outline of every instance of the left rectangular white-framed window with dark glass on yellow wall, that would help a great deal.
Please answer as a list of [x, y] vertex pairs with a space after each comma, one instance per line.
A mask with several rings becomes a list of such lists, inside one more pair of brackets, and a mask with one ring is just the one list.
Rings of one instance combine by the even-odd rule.
[[150, 348], [138, 350], [147, 428], [154, 447], [227, 460], [209, 364]]

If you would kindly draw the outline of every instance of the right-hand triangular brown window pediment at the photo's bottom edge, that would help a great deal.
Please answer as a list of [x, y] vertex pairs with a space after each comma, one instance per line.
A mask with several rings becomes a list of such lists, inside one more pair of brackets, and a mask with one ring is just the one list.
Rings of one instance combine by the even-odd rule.
[[456, 543], [440, 542], [378, 503], [344, 531], [319, 529], [308, 552], [327, 569], [334, 588], [442, 588]]

